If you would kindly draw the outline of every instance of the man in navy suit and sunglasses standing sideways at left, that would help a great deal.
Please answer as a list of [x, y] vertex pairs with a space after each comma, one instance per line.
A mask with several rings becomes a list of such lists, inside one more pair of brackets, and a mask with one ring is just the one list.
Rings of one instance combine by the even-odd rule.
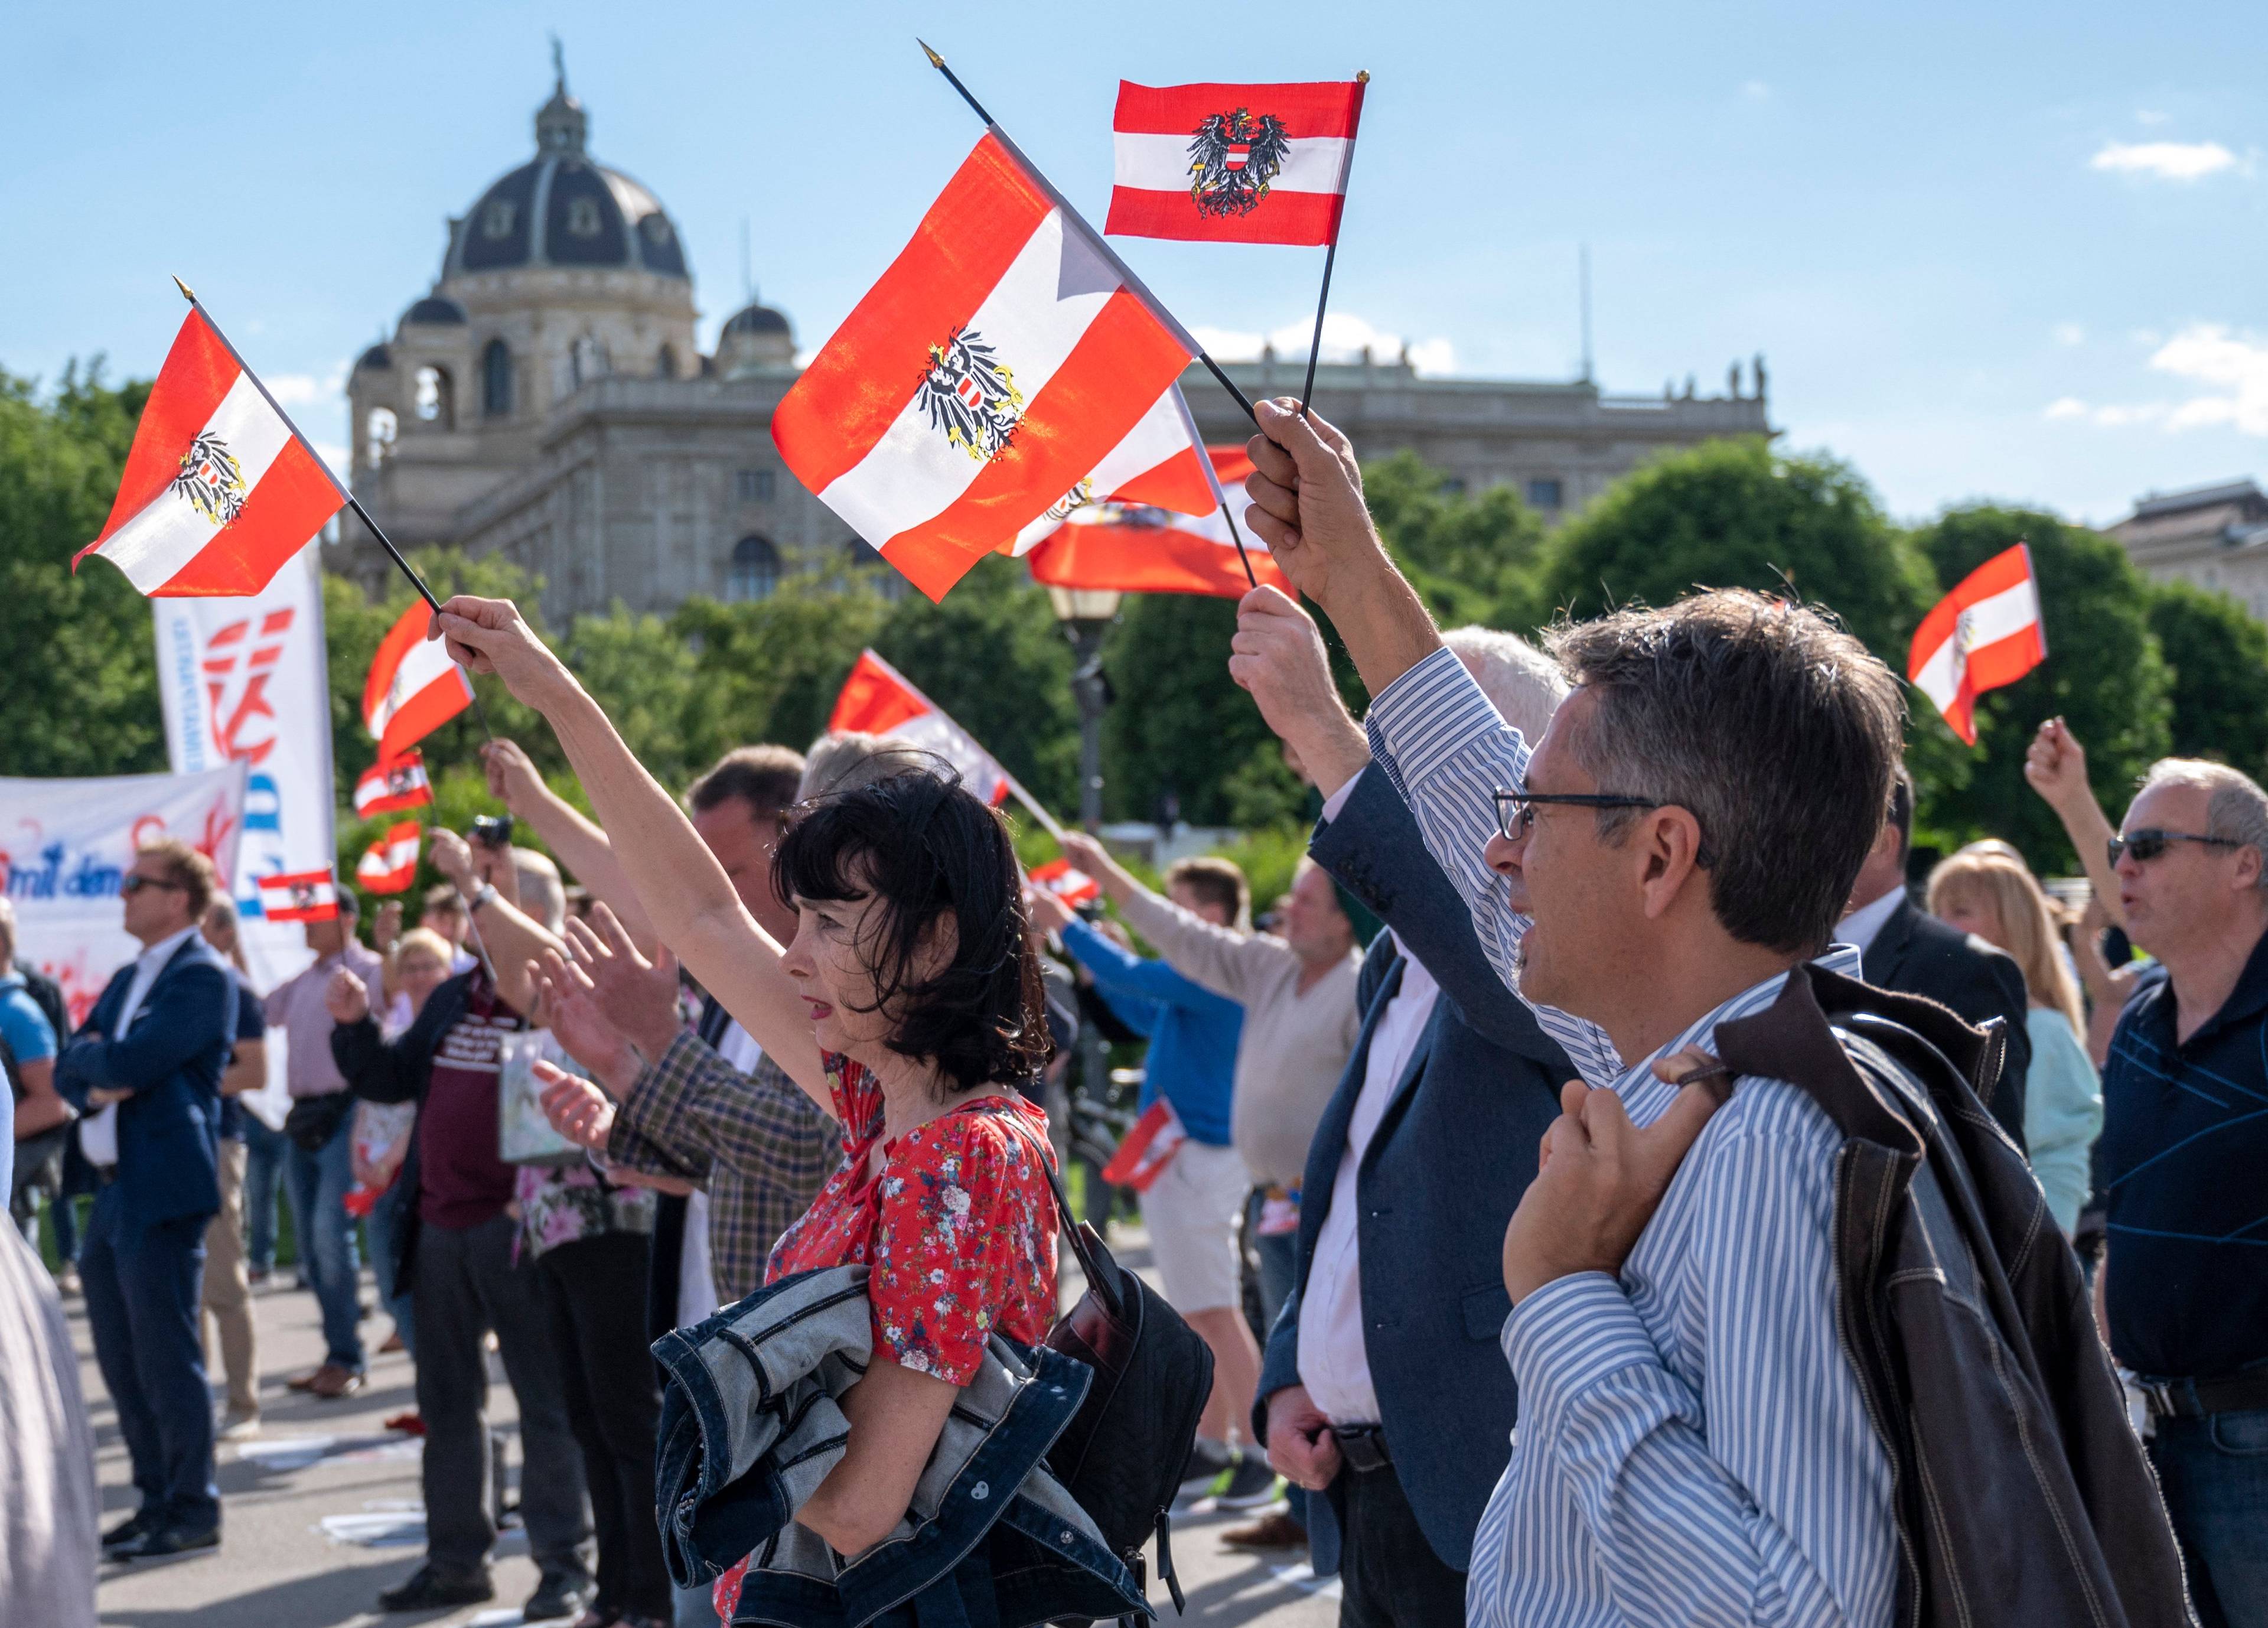
[[204, 1227], [220, 1209], [220, 1075], [236, 1041], [236, 984], [197, 936], [215, 893], [211, 859], [177, 837], [143, 843], [118, 893], [143, 952], [73, 1034], [54, 1084], [86, 1116], [79, 1147], [100, 1190], [79, 1279], [141, 1492], [102, 1549], [136, 1560], [220, 1544], [197, 1301]]

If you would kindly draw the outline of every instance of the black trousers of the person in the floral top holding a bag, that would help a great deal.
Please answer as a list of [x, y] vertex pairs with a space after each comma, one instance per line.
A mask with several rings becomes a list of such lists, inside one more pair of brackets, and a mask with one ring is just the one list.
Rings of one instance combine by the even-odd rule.
[[662, 1392], [646, 1347], [646, 1233], [615, 1231], [547, 1249], [535, 1263], [567, 1424], [583, 1449], [599, 1533], [599, 1614], [669, 1617], [669, 1567], [653, 1515], [653, 1435]]

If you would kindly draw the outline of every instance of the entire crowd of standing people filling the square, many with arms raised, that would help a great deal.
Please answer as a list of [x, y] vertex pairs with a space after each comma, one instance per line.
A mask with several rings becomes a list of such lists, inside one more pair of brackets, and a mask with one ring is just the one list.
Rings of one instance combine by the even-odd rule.
[[[1211, 1351], [1182, 1490], [1336, 1571], [1349, 1628], [2268, 1623], [2268, 794], [2168, 760], [2114, 825], [2048, 719], [2025, 775], [2084, 880], [1923, 868], [1901, 687], [1830, 617], [1440, 633], [1345, 438], [1261, 429], [1252, 528], [1370, 692], [1243, 601], [1229, 673], [1318, 798], [1263, 927], [1234, 864], [1157, 891], [1077, 832], [1107, 909], [1073, 909], [889, 739], [676, 798], [510, 603], [454, 599], [435, 635], [592, 814], [494, 741], [510, 825], [435, 832], [415, 927], [365, 948], [342, 891], [254, 991], [168, 839], [84, 1023], [0, 977], [14, 1213], [52, 1213], [134, 1472], [102, 1553], [220, 1544], [281, 1177], [324, 1336], [290, 1383], [365, 1383], [358, 1231], [415, 1363], [426, 1555], [386, 1610], [492, 1596], [490, 1340], [531, 1621], [1132, 1610], [1014, 1404], [1057, 1372], [1086, 1020], [1145, 1045], [1141, 1222]], [[236, 1102], [268, 1034], [279, 1129]], [[0, 1290], [52, 1345], [27, 1258]], [[0, 1603], [91, 1623], [84, 1417], [18, 1413]]]

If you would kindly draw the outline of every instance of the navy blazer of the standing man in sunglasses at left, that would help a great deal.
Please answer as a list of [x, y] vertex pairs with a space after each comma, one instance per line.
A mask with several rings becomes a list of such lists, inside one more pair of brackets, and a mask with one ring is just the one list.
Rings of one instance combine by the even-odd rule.
[[134, 986], [134, 964], [54, 1063], [54, 1088], [86, 1113], [95, 1086], [125, 1086], [118, 1104], [118, 1190], [138, 1227], [220, 1211], [220, 1075], [236, 1048], [236, 980], [202, 936], [172, 952], [122, 1041], [109, 1038]]

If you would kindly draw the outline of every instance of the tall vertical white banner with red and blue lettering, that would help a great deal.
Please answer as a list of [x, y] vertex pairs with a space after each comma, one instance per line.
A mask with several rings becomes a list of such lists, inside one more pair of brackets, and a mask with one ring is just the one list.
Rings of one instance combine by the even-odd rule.
[[263, 918], [259, 877], [338, 864], [320, 551], [306, 544], [256, 599], [150, 601], [172, 766], [197, 773], [243, 762], [252, 773], [234, 898], [261, 991], [315, 957], [297, 923]]

